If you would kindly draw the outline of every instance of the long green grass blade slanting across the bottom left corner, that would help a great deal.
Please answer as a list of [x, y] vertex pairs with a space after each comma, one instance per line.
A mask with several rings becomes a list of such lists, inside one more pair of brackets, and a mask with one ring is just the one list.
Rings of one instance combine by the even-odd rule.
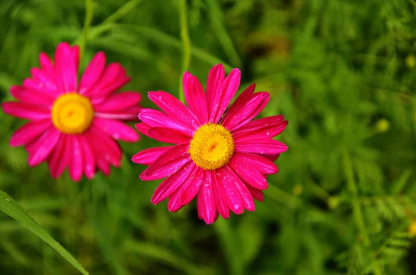
[[64, 249], [58, 242], [53, 240], [53, 238], [44, 230], [42, 227], [40, 227], [39, 224], [33, 218], [27, 211], [23, 209], [17, 202], [12, 199], [9, 195], [4, 193], [0, 190], [0, 210], [6, 213], [7, 215], [10, 215], [13, 219], [17, 220], [17, 222], [20, 222], [21, 225], [32, 231], [36, 236], [41, 238], [44, 242], [46, 242], [48, 245], [50, 245], [55, 251], [57, 251], [62, 257], [64, 257], [65, 260], [67, 260], [71, 265], [76, 267], [81, 273], [87, 275], [88, 272], [80, 265], [80, 263], [77, 262], [69, 252]]

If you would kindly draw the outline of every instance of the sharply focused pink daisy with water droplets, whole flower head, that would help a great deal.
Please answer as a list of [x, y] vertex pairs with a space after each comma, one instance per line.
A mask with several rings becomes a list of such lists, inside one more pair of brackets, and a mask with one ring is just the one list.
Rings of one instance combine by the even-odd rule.
[[178, 211], [197, 197], [200, 219], [211, 224], [244, 209], [254, 211], [253, 198], [263, 200], [266, 177], [277, 172], [275, 161], [287, 146], [272, 137], [280, 134], [287, 121], [283, 116], [252, 119], [266, 107], [269, 94], [254, 92], [250, 85], [226, 111], [240, 85], [240, 71], [225, 78], [224, 67], [209, 72], [207, 93], [198, 78], [184, 73], [187, 108], [164, 91], [148, 96], [163, 112], [141, 109], [137, 130], [150, 138], [175, 145], [143, 150], [132, 157], [149, 166], [140, 178], [164, 179], [151, 202], [168, 198], [168, 210]]

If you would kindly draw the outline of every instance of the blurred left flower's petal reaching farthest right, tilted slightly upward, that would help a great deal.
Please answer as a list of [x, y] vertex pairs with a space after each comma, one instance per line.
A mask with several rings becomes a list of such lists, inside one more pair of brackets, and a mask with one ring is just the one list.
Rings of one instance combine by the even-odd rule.
[[119, 94], [113, 94], [103, 102], [94, 105], [95, 112], [118, 112], [135, 106], [139, 103], [141, 94], [135, 91], [123, 91]]

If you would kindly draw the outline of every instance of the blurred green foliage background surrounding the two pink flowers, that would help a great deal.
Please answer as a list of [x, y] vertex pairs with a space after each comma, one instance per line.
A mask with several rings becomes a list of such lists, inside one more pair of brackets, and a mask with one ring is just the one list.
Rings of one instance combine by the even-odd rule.
[[[177, 96], [180, 1], [96, 0], [82, 69], [97, 51], [132, 76], [125, 89]], [[207, 226], [196, 205], [150, 204], [121, 143], [110, 177], [54, 181], [8, 140], [23, 121], [0, 112], [0, 189], [90, 274], [416, 274], [415, 0], [189, 0], [189, 71], [205, 85], [223, 62], [269, 91], [261, 116], [284, 114], [288, 152], [257, 211]], [[0, 100], [40, 51], [82, 41], [83, 0], [0, 2]], [[80, 274], [0, 213], [0, 274]]]

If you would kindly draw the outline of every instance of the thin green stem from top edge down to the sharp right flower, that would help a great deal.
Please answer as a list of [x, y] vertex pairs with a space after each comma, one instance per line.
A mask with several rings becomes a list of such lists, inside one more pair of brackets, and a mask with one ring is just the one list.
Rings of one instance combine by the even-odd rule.
[[[191, 39], [188, 31], [188, 9], [187, 0], [180, 0], [180, 38], [182, 40], [182, 72], [187, 71], [189, 62], [191, 62]], [[179, 79], [179, 99], [185, 103], [184, 89], [182, 87], [182, 76]]]

